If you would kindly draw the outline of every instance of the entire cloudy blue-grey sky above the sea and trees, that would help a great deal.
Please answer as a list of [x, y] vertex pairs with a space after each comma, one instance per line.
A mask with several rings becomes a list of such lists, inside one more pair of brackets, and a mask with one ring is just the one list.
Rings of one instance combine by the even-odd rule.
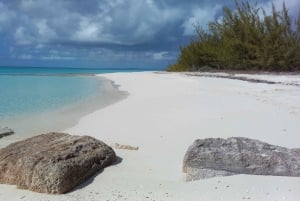
[[[250, 2], [252, 2], [250, 0]], [[253, 1], [254, 2], [254, 1]], [[257, 0], [270, 11], [272, 2]], [[0, 66], [165, 68], [233, 0], [0, 0]], [[291, 15], [300, 0], [285, 0]]]

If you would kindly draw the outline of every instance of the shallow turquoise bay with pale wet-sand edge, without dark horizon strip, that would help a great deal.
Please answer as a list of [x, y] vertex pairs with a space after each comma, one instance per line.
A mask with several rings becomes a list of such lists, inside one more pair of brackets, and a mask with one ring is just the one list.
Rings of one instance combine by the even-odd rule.
[[[120, 92], [112, 81], [95, 75], [10, 75], [8, 80], [11, 78], [15, 78], [12, 85], [1, 83], [2, 89], [6, 86], [12, 93], [5, 97], [2, 91], [0, 122], [15, 132], [5, 141], [62, 131], [76, 125], [82, 116], [127, 97], [127, 92]], [[32, 84], [28, 86], [29, 80]], [[27, 86], [20, 87], [22, 82]], [[6, 144], [3, 141], [0, 148]]]

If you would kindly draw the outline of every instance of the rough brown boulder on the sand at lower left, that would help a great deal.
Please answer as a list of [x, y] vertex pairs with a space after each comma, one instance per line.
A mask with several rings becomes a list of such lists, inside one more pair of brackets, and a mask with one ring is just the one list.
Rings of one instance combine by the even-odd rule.
[[42, 134], [0, 150], [0, 183], [61, 194], [115, 160], [113, 149], [92, 137]]

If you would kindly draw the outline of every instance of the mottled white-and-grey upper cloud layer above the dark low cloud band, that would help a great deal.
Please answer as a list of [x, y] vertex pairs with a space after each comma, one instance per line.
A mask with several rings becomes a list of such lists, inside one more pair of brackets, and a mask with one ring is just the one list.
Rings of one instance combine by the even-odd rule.
[[[297, 8], [298, 0], [286, 0]], [[281, 0], [275, 0], [281, 4]], [[206, 27], [221, 13], [222, 1], [191, 0], [11, 0], [0, 3], [0, 24], [18, 45], [89, 43], [137, 45], [159, 39], [176, 41]], [[270, 7], [270, 1], [260, 1]], [[229, 3], [231, 5], [232, 3]], [[298, 5], [299, 8], [299, 5]]]

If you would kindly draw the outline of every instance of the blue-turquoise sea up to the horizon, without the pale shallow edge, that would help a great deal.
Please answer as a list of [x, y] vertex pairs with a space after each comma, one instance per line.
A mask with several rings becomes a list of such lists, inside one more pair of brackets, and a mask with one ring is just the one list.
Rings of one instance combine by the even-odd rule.
[[144, 70], [0, 67], [0, 126], [2, 120], [64, 108], [93, 96], [109, 98], [101, 94], [103, 80], [82, 74], [137, 71]]

